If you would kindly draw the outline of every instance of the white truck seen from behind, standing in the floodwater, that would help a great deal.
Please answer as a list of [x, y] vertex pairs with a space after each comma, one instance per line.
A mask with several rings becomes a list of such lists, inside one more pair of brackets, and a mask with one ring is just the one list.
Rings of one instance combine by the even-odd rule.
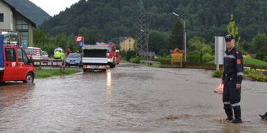
[[110, 50], [110, 47], [101, 45], [84, 45], [82, 50], [83, 72], [88, 70], [106, 71], [109, 67], [106, 53]]

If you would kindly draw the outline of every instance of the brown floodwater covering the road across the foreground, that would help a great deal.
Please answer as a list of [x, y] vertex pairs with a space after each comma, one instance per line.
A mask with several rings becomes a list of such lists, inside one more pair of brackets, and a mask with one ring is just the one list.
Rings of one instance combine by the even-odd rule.
[[267, 83], [243, 81], [243, 124], [225, 118], [212, 71], [120, 64], [0, 86], [0, 132], [267, 132]]

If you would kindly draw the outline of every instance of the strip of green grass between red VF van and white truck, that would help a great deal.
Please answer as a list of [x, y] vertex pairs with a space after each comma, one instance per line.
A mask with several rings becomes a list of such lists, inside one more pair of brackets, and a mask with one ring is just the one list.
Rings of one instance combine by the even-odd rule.
[[79, 70], [65, 69], [60, 73], [60, 69], [35, 69], [35, 78], [48, 78], [52, 76], [71, 75], [78, 73]]

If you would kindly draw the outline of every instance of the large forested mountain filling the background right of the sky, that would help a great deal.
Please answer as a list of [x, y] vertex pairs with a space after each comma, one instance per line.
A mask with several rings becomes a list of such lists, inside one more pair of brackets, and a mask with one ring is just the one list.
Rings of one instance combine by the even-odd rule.
[[[15, 0], [14, 0], [15, 1]], [[238, 26], [242, 41], [250, 41], [267, 30], [265, 0], [145, 0], [146, 24], [149, 30], [170, 33], [178, 17], [186, 19], [188, 38], [197, 35], [213, 42], [216, 35], [227, 34], [230, 14]], [[44, 21], [41, 28], [49, 35], [76, 35], [79, 28], [97, 27], [105, 41], [133, 36], [138, 30], [138, 0], [80, 0], [59, 15]]]

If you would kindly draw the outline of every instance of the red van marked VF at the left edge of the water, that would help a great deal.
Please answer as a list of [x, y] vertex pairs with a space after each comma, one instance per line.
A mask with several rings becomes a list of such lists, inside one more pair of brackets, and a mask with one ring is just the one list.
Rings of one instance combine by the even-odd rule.
[[19, 46], [18, 34], [0, 31], [0, 82], [33, 82], [34, 76], [33, 60]]

